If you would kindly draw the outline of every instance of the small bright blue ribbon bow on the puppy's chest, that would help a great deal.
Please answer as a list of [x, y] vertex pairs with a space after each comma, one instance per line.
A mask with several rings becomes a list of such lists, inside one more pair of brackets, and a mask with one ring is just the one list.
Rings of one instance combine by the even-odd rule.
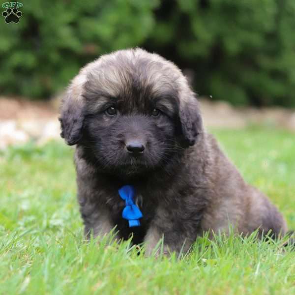
[[122, 217], [128, 220], [129, 227], [140, 226], [139, 218], [142, 218], [143, 214], [133, 202], [134, 187], [132, 185], [124, 185], [118, 192], [120, 197], [126, 202]]

